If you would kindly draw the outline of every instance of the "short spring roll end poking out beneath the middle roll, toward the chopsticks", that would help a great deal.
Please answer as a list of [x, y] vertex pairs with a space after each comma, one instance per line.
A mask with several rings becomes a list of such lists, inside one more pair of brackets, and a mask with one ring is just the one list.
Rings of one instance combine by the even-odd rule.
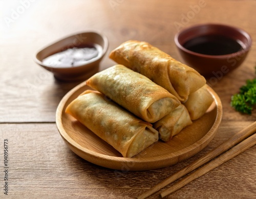
[[159, 131], [159, 139], [168, 142], [190, 124], [192, 124], [192, 121], [188, 111], [186, 107], [181, 104], [172, 113], [154, 123], [153, 127]]

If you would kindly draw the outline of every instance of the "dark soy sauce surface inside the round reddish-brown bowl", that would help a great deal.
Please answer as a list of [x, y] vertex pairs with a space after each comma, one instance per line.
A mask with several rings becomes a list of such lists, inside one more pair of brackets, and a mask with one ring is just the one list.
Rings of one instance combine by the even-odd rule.
[[205, 35], [188, 40], [183, 45], [187, 50], [205, 55], [226, 55], [242, 49], [239, 42], [222, 35]]

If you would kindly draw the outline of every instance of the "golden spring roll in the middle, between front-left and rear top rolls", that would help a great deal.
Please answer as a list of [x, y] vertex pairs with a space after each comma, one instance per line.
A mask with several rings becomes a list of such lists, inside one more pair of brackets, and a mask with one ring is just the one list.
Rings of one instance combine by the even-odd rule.
[[163, 87], [120, 64], [96, 73], [86, 83], [146, 122], [156, 122], [180, 105]]

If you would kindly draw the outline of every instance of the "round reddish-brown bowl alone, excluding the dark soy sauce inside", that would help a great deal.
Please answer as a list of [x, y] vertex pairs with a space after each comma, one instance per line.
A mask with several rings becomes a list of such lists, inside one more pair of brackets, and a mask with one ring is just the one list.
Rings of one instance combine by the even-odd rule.
[[[241, 49], [237, 52], [228, 54], [217, 53], [215, 55], [205, 54], [204, 52], [198, 53], [187, 49], [186, 44], [189, 40], [208, 35], [218, 35], [235, 40], [241, 45]], [[245, 60], [252, 40], [248, 33], [239, 28], [220, 24], [204, 24], [181, 30], [175, 35], [175, 43], [182, 58], [189, 67], [196, 69], [205, 77], [210, 77], [220, 74], [223, 76], [229, 71], [238, 68]], [[211, 48], [211, 45], [208, 48]], [[217, 49], [217, 52], [221, 52], [221, 50]]]

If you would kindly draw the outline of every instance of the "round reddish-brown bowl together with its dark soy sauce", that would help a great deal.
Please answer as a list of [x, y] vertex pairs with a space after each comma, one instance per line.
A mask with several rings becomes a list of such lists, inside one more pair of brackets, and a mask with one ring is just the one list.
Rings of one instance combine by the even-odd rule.
[[186, 64], [205, 77], [224, 76], [245, 60], [252, 40], [244, 30], [222, 24], [185, 28], [175, 35]]

